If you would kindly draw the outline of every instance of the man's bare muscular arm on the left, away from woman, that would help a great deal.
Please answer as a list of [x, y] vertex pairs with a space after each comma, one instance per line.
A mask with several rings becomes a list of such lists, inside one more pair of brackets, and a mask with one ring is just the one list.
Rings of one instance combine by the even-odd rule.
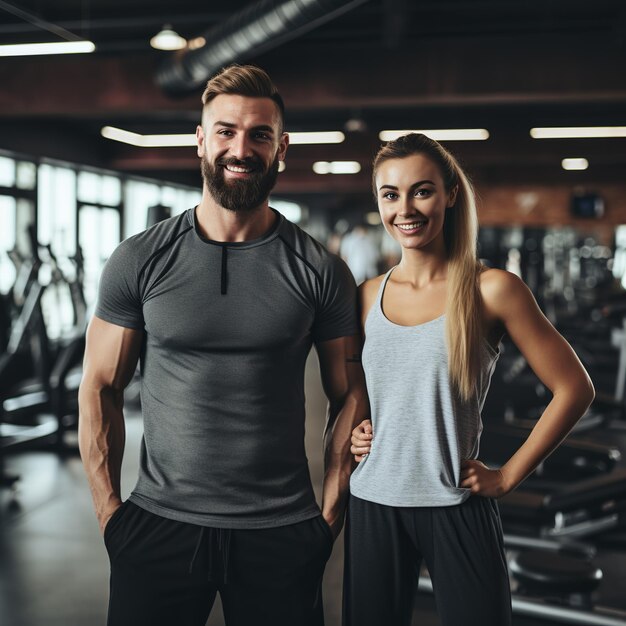
[[135, 371], [141, 342], [141, 331], [98, 317], [87, 329], [78, 393], [78, 443], [101, 532], [121, 504], [124, 389]]

